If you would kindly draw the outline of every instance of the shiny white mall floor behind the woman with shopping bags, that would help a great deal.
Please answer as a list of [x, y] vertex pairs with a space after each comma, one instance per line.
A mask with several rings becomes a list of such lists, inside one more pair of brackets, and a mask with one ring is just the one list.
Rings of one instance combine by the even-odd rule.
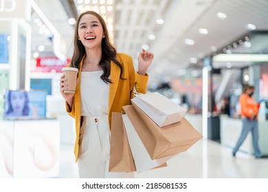
[[[139, 173], [137, 178], [268, 178], [268, 158], [256, 159], [214, 141], [202, 140], [168, 161], [168, 167]], [[73, 145], [61, 145], [59, 178], [78, 178]]]

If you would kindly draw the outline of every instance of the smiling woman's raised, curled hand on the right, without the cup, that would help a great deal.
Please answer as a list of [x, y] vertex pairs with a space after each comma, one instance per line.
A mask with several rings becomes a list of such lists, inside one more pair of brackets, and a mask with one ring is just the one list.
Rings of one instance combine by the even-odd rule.
[[139, 57], [137, 58], [137, 61], [139, 63], [138, 67], [138, 73], [139, 75], [145, 75], [148, 67], [150, 67], [150, 64], [153, 61], [153, 53], [145, 51], [142, 49], [142, 52], [139, 53]]

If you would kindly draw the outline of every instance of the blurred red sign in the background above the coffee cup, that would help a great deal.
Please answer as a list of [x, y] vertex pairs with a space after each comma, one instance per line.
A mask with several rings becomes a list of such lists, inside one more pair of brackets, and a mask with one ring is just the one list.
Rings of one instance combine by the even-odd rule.
[[33, 69], [32, 72], [51, 73], [55, 71], [61, 73], [61, 69], [66, 67], [69, 62], [71, 62], [69, 58], [65, 61], [59, 60], [57, 57], [36, 58], [36, 69]]

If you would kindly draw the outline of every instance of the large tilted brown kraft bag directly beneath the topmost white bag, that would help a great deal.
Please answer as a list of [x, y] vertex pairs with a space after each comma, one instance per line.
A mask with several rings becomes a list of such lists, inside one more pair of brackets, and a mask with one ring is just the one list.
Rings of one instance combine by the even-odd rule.
[[160, 128], [134, 103], [123, 108], [152, 159], [185, 152], [203, 137], [184, 117]]

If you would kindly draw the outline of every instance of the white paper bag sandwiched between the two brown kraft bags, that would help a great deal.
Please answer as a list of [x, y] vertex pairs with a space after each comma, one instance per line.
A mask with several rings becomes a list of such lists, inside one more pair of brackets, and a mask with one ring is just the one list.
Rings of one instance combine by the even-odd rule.
[[[142, 140], [139, 139], [139, 135], [137, 134], [135, 128], [133, 127], [129, 117], [126, 114], [122, 115], [124, 126], [126, 128], [126, 134], [129, 139], [129, 145], [131, 147], [131, 152], [133, 155], [133, 159], [135, 162], [135, 167], [137, 169], [137, 173], [141, 173], [142, 171], [148, 171], [153, 168], [157, 168], [161, 165], [166, 164], [166, 161], [172, 158], [172, 156], [166, 156], [164, 158], [158, 158], [152, 160], [150, 155], [148, 154]], [[166, 167], [166, 166], [163, 166]]]

